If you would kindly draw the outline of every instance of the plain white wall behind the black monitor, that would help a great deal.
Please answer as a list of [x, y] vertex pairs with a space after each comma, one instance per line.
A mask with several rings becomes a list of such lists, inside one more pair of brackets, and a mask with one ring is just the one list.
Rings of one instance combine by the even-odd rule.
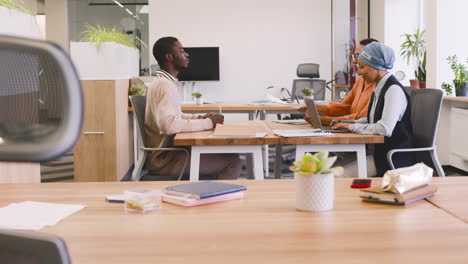
[[197, 83], [205, 100], [263, 99], [270, 85], [290, 88], [304, 62], [330, 80], [330, 21], [329, 0], [149, 1], [150, 48], [163, 36], [220, 47], [221, 81]]

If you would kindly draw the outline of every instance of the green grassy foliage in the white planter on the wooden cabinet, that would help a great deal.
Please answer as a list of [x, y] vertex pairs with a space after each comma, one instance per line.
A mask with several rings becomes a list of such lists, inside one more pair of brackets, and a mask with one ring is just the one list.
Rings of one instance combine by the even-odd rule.
[[104, 42], [115, 42], [130, 48], [138, 49], [142, 42], [139, 39], [134, 39], [122, 31], [114, 28], [106, 28], [100, 25], [92, 26], [85, 25], [86, 30], [81, 32], [82, 42], [95, 42], [98, 49], [101, 48]]

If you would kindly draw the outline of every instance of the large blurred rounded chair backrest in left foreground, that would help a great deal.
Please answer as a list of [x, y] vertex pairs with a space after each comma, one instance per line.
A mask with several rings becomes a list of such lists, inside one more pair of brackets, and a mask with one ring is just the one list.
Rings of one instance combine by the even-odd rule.
[[78, 140], [82, 117], [80, 81], [60, 47], [0, 36], [0, 161], [59, 158]]

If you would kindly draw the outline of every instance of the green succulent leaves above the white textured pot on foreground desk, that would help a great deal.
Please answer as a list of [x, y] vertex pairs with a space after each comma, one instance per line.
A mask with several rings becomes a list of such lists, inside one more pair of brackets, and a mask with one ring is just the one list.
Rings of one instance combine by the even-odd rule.
[[322, 151], [315, 154], [307, 153], [300, 160], [294, 162], [294, 166], [290, 167], [291, 171], [297, 172], [300, 175], [307, 176], [311, 174], [327, 174], [333, 173], [336, 176], [343, 174], [343, 167], [334, 167], [335, 157], [328, 157], [328, 151]]

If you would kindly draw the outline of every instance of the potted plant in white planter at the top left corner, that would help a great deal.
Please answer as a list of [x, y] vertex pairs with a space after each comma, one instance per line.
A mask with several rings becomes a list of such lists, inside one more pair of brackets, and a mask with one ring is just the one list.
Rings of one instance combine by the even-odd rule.
[[0, 34], [39, 38], [35, 12], [22, 1], [0, 0]]

